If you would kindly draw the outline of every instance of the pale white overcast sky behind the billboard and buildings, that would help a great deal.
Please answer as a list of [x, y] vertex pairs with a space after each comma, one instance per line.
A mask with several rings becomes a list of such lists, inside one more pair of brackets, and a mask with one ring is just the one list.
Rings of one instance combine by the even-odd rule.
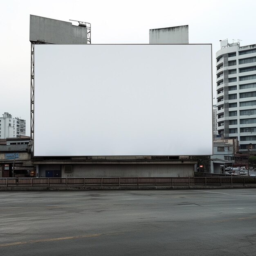
[[30, 14], [90, 22], [95, 44], [148, 43], [149, 29], [189, 25], [189, 43], [213, 44], [215, 95], [214, 65], [219, 40], [229, 38], [232, 43], [232, 39], [241, 39], [241, 45], [256, 43], [255, 9], [255, 0], [2, 1], [0, 115], [9, 112], [13, 117], [26, 119], [26, 135], [30, 135]]

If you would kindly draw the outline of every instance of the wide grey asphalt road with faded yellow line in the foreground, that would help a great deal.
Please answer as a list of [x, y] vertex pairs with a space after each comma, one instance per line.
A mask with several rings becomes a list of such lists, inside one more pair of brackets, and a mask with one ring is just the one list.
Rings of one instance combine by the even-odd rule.
[[3, 191], [0, 255], [256, 255], [256, 189]]

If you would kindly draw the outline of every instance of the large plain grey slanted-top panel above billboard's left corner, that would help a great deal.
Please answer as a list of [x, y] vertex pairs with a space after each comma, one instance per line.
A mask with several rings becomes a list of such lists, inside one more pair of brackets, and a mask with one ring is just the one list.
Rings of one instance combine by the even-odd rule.
[[30, 15], [29, 40], [58, 45], [87, 44], [87, 28], [71, 22]]

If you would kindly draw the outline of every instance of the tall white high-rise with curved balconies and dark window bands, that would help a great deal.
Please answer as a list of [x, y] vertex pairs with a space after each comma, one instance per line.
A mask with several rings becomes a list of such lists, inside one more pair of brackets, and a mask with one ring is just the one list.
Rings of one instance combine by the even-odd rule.
[[256, 45], [222, 43], [216, 53], [217, 131], [256, 150]]

